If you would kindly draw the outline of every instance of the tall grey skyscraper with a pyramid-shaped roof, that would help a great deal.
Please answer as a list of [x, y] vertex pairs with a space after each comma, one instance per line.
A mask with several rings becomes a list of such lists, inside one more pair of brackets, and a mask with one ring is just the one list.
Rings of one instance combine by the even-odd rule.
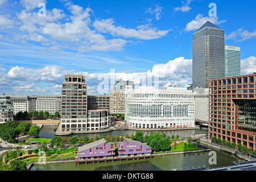
[[193, 34], [193, 89], [225, 77], [224, 46], [224, 30], [209, 21]]

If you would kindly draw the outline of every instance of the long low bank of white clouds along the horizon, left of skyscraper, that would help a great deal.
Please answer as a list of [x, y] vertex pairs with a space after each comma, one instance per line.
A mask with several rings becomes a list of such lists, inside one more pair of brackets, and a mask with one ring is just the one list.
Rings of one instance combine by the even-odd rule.
[[[98, 90], [98, 85], [102, 80], [107, 80], [104, 85], [107, 87], [105, 93], [109, 93], [111, 79], [114, 80], [133, 80], [135, 85], [147, 86], [152, 80], [158, 78], [159, 88], [167, 82], [177, 83], [184, 87], [192, 81], [192, 60], [178, 57], [168, 61], [166, 64], [155, 64], [151, 70], [146, 72], [112, 72], [109, 73], [88, 73], [72, 69], [67, 69], [59, 65], [46, 65], [41, 68], [13, 67], [7, 73], [0, 72], [0, 92], [9, 94], [51, 94], [60, 93], [61, 83], [64, 81], [65, 74], [85, 75], [85, 80], [92, 90], [89, 93], [102, 93]], [[145, 78], [147, 82], [144, 82]], [[112, 80], [112, 81], [114, 81]], [[156, 79], [157, 81], [157, 79]], [[3, 87], [2, 87], [3, 86]], [[8, 88], [8, 90], [5, 90]], [[40, 90], [41, 89], [41, 90]], [[24, 93], [26, 92], [26, 93]]]

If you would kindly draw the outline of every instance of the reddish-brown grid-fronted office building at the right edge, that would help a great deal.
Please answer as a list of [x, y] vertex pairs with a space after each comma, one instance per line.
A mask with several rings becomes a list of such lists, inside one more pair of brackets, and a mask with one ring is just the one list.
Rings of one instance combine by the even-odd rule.
[[256, 149], [256, 73], [209, 81], [208, 134]]

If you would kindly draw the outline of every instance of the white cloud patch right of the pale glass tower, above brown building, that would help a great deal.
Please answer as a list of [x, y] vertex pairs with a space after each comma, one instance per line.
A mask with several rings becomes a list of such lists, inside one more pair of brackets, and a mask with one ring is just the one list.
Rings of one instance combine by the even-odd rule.
[[256, 57], [250, 56], [241, 60], [241, 75], [249, 75], [256, 72]]

